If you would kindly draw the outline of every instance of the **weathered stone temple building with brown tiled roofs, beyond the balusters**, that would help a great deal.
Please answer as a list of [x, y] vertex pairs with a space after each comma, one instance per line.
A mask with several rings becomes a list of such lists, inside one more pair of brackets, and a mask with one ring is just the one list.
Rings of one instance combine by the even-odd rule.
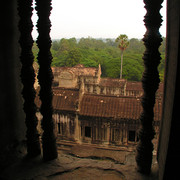
[[[138, 141], [142, 112], [141, 82], [101, 78], [101, 67], [52, 67], [53, 108], [58, 140], [103, 145]], [[159, 136], [162, 108], [160, 84], [154, 107], [154, 129]], [[37, 97], [36, 102], [40, 106]], [[40, 113], [38, 113], [41, 119]]]

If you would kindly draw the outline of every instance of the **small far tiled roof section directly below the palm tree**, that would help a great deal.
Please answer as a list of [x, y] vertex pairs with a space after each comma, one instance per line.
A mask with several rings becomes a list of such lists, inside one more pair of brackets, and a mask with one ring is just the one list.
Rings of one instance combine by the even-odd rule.
[[113, 78], [101, 78], [99, 85], [107, 87], [121, 87], [123, 88], [127, 80], [125, 79], [113, 79]]

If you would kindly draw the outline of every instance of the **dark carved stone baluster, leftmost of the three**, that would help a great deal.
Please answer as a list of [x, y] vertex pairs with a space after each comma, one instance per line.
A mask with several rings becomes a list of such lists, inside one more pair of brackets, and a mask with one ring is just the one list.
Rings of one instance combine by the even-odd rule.
[[19, 13], [19, 31], [20, 31], [20, 46], [21, 46], [21, 80], [23, 83], [22, 95], [24, 98], [24, 112], [26, 114], [27, 126], [27, 152], [28, 156], [35, 157], [41, 153], [39, 134], [37, 132], [37, 117], [36, 105], [34, 103], [35, 90], [34, 81], [35, 73], [33, 69], [34, 56], [32, 53], [33, 39], [31, 36], [33, 24], [31, 21], [32, 16], [32, 0], [18, 0], [18, 13]]

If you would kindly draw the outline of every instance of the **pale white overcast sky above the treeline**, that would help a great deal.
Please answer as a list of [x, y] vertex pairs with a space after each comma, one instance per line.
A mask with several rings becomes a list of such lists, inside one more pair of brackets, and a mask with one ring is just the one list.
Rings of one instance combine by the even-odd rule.
[[[163, 24], [160, 29], [166, 36], [166, 0], [161, 9]], [[126, 34], [129, 38], [143, 38], [143, 0], [52, 0], [51, 38], [116, 38]], [[32, 17], [34, 25], [36, 13]], [[36, 27], [33, 38], [37, 38]]]

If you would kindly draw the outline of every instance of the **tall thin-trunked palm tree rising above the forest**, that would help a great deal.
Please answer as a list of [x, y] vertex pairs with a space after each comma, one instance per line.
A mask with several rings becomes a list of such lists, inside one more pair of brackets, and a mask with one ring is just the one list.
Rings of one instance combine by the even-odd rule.
[[129, 45], [129, 41], [128, 41], [128, 36], [126, 34], [120, 34], [120, 36], [118, 36], [116, 38], [116, 42], [118, 43], [118, 47], [121, 50], [121, 70], [120, 70], [120, 79], [122, 79], [122, 65], [123, 65], [123, 53], [124, 50], [126, 50], [126, 48]]

